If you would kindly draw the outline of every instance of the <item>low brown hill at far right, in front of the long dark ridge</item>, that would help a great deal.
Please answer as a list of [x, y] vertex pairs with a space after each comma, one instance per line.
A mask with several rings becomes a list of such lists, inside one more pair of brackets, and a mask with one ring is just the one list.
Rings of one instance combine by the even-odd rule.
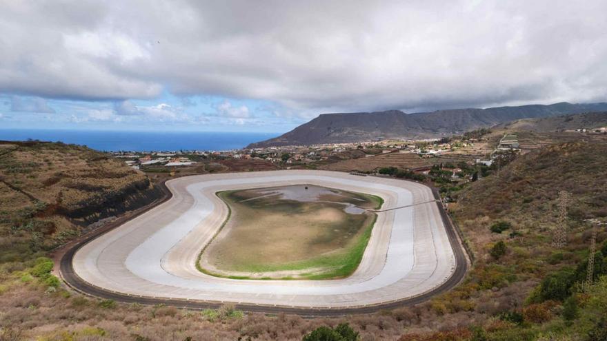
[[508, 123], [501, 123], [496, 128], [518, 132], [559, 132], [579, 128], [607, 127], [607, 112], [586, 112], [544, 118], [523, 118]]

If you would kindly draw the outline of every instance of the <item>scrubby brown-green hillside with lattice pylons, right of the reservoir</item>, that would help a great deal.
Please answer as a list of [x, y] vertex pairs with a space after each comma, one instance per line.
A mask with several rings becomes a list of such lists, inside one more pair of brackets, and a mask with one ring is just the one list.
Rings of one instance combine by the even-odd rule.
[[[586, 278], [588, 262], [590, 225], [584, 220], [607, 218], [605, 155], [606, 143], [550, 145], [461, 189], [449, 208], [472, 248], [475, 265], [466, 282], [435, 300], [436, 307], [508, 322], [488, 334], [494, 335], [489, 340], [536, 340], [541, 335], [569, 337], [550, 340], [602, 340], [573, 335], [596, 332], [604, 323], [592, 320], [596, 312], [579, 312], [598, 298], [576, 288]], [[554, 247], [560, 191], [571, 194], [568, 240], [566, 246]], [[607, 250], [606, 240], [607, 231], [599, 229], [597, 250]], [[595, 280], [607, 274], [606, 264], [607, 258], [597, 252]], [[602, 288], [606, 284], [602, 282]], [[566, 315], [564, 309], [573, 309], [568, 304], [575, 304], [578, 312]], [[511, 319], [516, 314], [525, 322]], [[566, 319], [579, 323], [571, 327]]]

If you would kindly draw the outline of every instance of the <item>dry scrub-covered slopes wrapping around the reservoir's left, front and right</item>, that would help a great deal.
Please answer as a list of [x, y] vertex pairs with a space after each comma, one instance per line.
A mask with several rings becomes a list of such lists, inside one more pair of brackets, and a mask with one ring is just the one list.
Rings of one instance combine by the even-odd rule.
[[[38, 257], [46, 255], [43, 249], [77, 235], [79, 222], [88, 218], [62, 214], [69, 211], [66, 203], [96, 207], [101, 197], [126, 194], [133, 183], [145, 184], [146, 177], [105, 154], [73, 145], [11, 143], [0, 148], [0, 174], [6, 181], [0, 198], [0, 340], [301, 340], [318, 327], [341, 323], [349, 323], [361, 340], [603, 340], [585, 335], [601, 335], [605, 322], [597, 317], [607, 315], [607, 278], [584, 294], [576, 293], [573, 283], [586, 273], [590, 231], [583, 219], [607, 216], [604, 142], [542, 147], [464, 189], [454, 189], [458, 200], [449, 208], [475, 261], [466, 280], [452, 291], [413, 307], [316, 319], [243, 315], [230, 306], [199, 312], [123, 304], [61, 287], [48, 273], [50, 267], [44, 268], [52, 262]], [[61, 176], [53, 175], [61, 169]], [[570, 238], [557, 249], [550, 240], [563, 189], [573, 194]], [[148, 191], [128, 197], [144, 198]], [[63, 199], [56, 200], [58, 196]], [[45, 235], [41, 227], [49, 223], [57, 231]], [[495, 223], [510, 225], [494, 233], [490, 227]], [[50, 240], [41, 248], [40, 236]], [[605, 240], [602, 230], [597, 249], [607, 254]], [[504, 253], [492, 256], [500, 241]], [[602, 255], [595, 258], [595, 273], [607, 273]], [[561, 277], [565, 287], [556, 293], [542, 285], [548, 281], [559, 289]], [[575, 314], [567, 315], [571, 304]]]

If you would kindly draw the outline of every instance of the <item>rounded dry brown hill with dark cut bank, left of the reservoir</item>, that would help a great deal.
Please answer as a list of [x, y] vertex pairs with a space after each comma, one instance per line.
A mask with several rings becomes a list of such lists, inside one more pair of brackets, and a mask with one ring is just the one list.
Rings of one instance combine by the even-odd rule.
[[155, 196], [144, 174], [87, 147], [0, 144], [0, 248], [48, 249]]

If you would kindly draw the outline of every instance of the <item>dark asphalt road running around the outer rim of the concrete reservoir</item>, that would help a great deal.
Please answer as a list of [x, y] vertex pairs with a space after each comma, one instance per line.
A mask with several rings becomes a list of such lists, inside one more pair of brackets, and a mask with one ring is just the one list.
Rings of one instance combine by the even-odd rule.
[[[267, 173], [267, 172], [266, 172]], [[259, 175], [259, 174], [258, 174]], [[340, 174], [340, 176], [344, 176], [345, 174]], [[358, 180], [361, 177], [357, 177]], [[363, 177], [363, 179], [365, 179]], [[370, 180], [370, 177], [367, 178]], [[205, 178], [203, 178], [205, 180]], [[384, 180], [382, 180], [384, 181]], [[388, 180], [390, 181], [400, 181], [402, 180]], [[419, 184], [417, 184], [419, 186]], [[237, 309], [241, 309], [243, 311], [250, 312], [262, 312], [262, 313], [293, 313], [300, 316], [340, 316], [340, 315], [348, 315], [348, 314], [356, 314], [356, 313], [372, 313], [375, 311], [379, 311], [382, 309], [392, 309], [395, 307], [403, 307], [406, 305], [417, 304], [419, 302], [423, 302], [428, 300], [428, 298], [437, 295], [438, 293], [448, 291], [452, 287], [455, 287], [462, 278], [466, 275], [466, 271], [468, 269], [468, 262], [466, 259], [466, 254], [464, 253], [464, 249], [461, 247], [461, 244], [457, 238], [457, 231], [455, 231], [455, 227], [452, 226], [450, 220], [444, 211], [440, 201], [437, 191], [432, 191], [432, 196], [436, 201], [432, 201], [428, 203], [428, 205], [436, 205], [436, 209], [439, 211], [439, 216], [441, 219], [441, 225], [444, 226], [444, 231], [446, 236], [448, 237], [448, 242], [450, 248], [452, 249], [452, 255], [455, 260], [455, 268], [450, 272], [450, 276], [442, 281], [436, 287], [428, 291], [424, 291], [412, 297], [398, 297], [395, 300], [384, 300], [383, 302], [379, 302], [377, 304], [360, 304], [355, 307], [297, 307], [289, 304], [259, 304], [252, 302], [234, 302], [234, 305]], [[155, 205], [150, 205], [150, 207], [145, 207], [141, 209], [141, 211], [137, 212], [137, 216], [145, 215], [150, 209], [154, 207], [162, 206], [164, 203], [167, 203], [169, 199], [172, 198], [170, 192], [166, 194], [166, 198], [164, 200], [159, 200], [159, 202], [155, 203]], [[427, 199], [427, 198], [426, 198]], [[427, 200], [426, 200], [427, 201]], [[396, 203], [394, 203], [396, 204]], [[393, 205], [397, 207], [397, 205]], [[390, 208], [390, 207], [386, 207]], [[153, 211], [153, 210], [152, 210]], [[132, 221], [135, 216], [128, 217]], [[126, 219], [126, 218], [125, 218]], [[168, 304], [173, 305], [175, 307], [185, 307], [188, 309], [208, 309], [208, 308], [217, 308], [226, 302], [230, 302], [229, 300], [199, 300], [199, 299], [188, 299], [188, 298], [168, 298], [168, 297], [159, 297], [161, 293], [157, 297], [152, 295], [137, 295], [135, 293], [124, 293], [121, 290], [112, 290], [107, 287], [101, 287], [98, 285], [93, 285], [91, 282], [87, 280], [83, 280], [81, 276], [79, 276], [76, 271], [74, 271], [74, 255], [79, 251], [82, 247], [88, 245], [93, 240], [97, 240], [97, 238], [108, 234], [108, 232], [116, 229], [119, 226], [122, 226], [124, 223], [127, 223], [123, 220], [117, 220], [114, 223], [103, 227], [102, 229], [98, 229], [93, 231], [91, 234], [86, 236], [85, 238], [81, 238], [74, 242], [72, 245], [69, 245], [64, 249], [60, 260], [60, 276], [66, 283], [77, 291], [81, 291], [82, 293], [86, 293], [91, 296], [95, 296], [98, 298], [110, 298], [113, 300], [121, 301], [121, 302], [138, 302], [140, 304]], [[371, 245], [370, 245], [371, 246]], [[188, 258], [189, 259], [189, 258]], [[371, 269], [372, 267], [366, 267], [366, 269]], [[263, 281], [257, 281], [257, 283], [263, 284]], [[294, 282], [294, 281], [291, 281]], [[300, 282], [301, 281], [297, 281]], [[325, 281], [331, 282], [331, 281]], [[258, 284], [256, 284], [258, 285]], [[233, 302], [233, 301], [232, 301]]]

